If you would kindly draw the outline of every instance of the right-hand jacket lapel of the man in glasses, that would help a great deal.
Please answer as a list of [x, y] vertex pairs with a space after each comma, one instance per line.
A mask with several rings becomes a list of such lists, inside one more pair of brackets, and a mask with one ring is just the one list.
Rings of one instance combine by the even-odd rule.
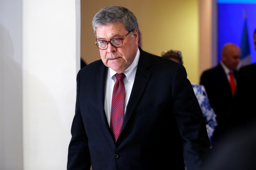
[[[139, 48], [140, 49], [140, 48]], [[136, 75], [134, 79], [134, 83], [132, 86], [132, 92], [126, 107], [126, 112], [124, 115], [124, 122], [121, 128], [120, 133], [122, 133], [125, 125], [129, 121], [135, 107], [137, 106], [138, 102], [140, 101], [140, 97], [144, 92], [144, 89], [148, 83], [148, 80], [151, 76], [151, 72], [148, 70], [150, 67], [150, 63], [148, 61], [147, 55], [144, 51], [140, 49], [140, 59], [138, 62], [138, 67], [136, 70]]]

